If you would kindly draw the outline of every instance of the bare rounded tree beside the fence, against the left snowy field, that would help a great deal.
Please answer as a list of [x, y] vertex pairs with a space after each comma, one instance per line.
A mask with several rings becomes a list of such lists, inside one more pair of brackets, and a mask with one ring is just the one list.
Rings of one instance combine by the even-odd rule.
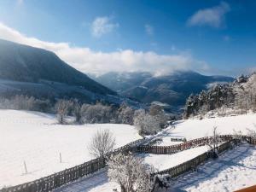
[[113, 133], [109, 130], [103, 130], [97, 131], [92, 137], [88, 149], [91, 155], [98, 158], [111, 152], [114, 145], [115, 138], [113, 137]]

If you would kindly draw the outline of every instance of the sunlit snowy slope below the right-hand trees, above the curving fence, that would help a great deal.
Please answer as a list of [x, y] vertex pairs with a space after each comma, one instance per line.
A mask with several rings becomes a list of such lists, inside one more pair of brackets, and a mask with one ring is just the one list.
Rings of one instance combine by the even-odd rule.
[[171, 138], [186, 137], [187, 140], [212, 136], [212, 129], [217, 126], [219, 134], [234, 134], [241, 131], [247, 134], [247, 128], [256, 130], [256, 114], [242, 114], [231, 117], [216, 117], [210, 119], [187, 119], [177, 121], [175, 127], [165, 131], [166, 136], [162, 138], [160, 145], [173, 145]]

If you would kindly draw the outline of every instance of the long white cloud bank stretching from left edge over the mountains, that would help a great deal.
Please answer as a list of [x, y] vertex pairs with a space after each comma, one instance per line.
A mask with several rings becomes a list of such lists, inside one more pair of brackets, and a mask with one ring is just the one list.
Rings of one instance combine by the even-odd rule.
[[172, 73], [174, 70], [193, 69], [202, 71], [207, 63], [196, 61], [189, 53], [158, 55], [152, 51], [119, 49], [113, 52], [93, 51], [87, 47], [73, 47], [68, 43], [51, 43], [29, 38], [15, 29], [0, 23], [0, 38], [49, 49], [63, 61], [84, 73], [107, 73], [110, 71], [148, 71], [151, 73]]

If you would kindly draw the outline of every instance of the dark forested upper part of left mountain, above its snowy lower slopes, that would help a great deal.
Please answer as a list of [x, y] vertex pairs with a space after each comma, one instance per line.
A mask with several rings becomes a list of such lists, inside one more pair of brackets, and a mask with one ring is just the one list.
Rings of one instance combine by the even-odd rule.
[[42, 80], [81, 86], [99, 94], [115, 95], [45, 49], [0, 40], [0, 79], [40, 83]]

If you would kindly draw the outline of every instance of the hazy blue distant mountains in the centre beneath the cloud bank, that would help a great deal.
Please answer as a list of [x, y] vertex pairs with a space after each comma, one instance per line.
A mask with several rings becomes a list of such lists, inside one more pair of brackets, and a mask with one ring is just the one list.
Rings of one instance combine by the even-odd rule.
[[158, 77], [151, 73], [113, 72], [91, 77], [122, 96], [144, 103], [162, 102], [175, 108], [182, 107], [191, 93], [207, 90], [212, 84], [234, 80], [224, 76], [206, 76], [193, 71], [177, 71]]

